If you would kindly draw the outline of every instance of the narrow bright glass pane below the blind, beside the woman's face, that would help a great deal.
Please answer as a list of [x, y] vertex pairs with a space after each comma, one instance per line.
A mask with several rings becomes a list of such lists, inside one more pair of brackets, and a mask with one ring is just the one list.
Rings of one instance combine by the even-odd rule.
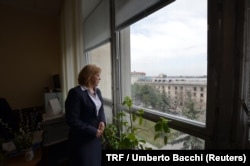
[[99, 88], [101, 89], [103, 98], [112, 99], [111, 92], [111, 53], [110, 43], [104, 44], [88, 52], [90, 64], [95, 64], [102, 69], [101, 81]]

